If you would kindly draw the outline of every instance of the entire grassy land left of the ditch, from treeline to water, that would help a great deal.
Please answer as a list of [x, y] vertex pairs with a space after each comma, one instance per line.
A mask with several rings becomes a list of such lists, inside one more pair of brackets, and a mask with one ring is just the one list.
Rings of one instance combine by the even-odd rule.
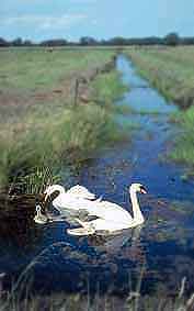
[[121, 138], [111, 103], [125, 87], [114, 55], [109, 49], [0, 51], [1, 187], [26, 176], [27, 182], [31, 176], [43, 182], [39, 168], [79, 162]]

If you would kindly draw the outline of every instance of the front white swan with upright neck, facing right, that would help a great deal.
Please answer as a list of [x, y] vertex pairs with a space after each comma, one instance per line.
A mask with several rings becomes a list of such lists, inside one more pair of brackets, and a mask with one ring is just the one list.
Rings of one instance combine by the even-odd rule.
[[81, 226], [77, 229], [68, 229], [68, 234], [80, 236], [94, 234], [98, 231], [113, 233], [140, 225], [144, 223], [145, 219], [139, 208], [137, 192], [147, 193], [142, 185], [132, 184], [129, 193], [134, 213], [133, 218], [128, 211], [115, 203], [109, 201], [93, 201], [88, 204], [87, 210], [89, 211], [89, 215], [95, 215], [98, 219], [88, 222], [77, 219]]

